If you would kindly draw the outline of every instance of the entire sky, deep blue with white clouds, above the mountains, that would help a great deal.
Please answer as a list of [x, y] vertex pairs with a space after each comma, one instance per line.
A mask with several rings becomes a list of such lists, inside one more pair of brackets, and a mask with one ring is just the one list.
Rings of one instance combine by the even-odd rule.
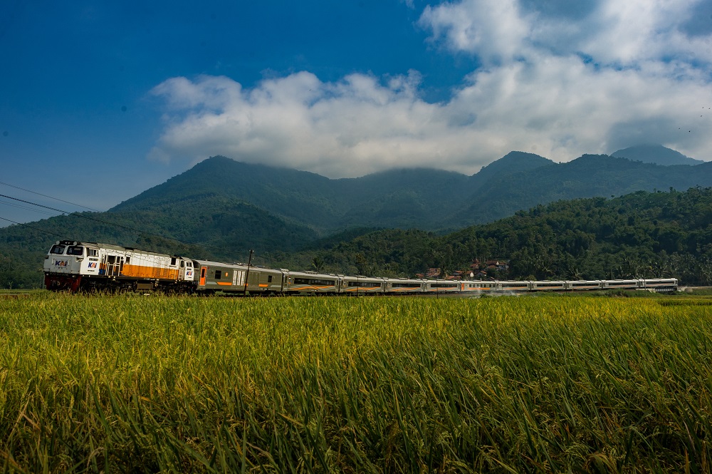
[[4, 0], [0, 64], [0, 226], [58, 213], [11, 197], [106, 210], [213, 155], [712, 160], [712, 0]]

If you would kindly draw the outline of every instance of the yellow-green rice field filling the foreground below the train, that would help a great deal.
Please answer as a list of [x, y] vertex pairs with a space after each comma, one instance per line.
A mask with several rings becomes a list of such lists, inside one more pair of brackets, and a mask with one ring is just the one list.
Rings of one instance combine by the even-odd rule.
[[711, 470], [703, 299], [0, 299], [2, 472]]

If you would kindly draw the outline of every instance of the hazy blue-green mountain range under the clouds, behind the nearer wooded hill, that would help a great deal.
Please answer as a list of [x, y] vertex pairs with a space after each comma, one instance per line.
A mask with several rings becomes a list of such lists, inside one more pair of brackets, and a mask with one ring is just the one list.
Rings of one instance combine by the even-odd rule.
[[559, 200], [696, 186], [712, 186], [712, 163], [664, 166], [607, 155], [553, 163], [513, 152], [472, 176], [418, 168], [330, 180], [213, 157], [108, 212], [0, 229], [0, 274], [30, 281], [56, 239], [227, 261], [244, 261], [254, 249], [257, 264], [288, 266], [300, 249], [334, 247], [372, 228], [444, 234]]

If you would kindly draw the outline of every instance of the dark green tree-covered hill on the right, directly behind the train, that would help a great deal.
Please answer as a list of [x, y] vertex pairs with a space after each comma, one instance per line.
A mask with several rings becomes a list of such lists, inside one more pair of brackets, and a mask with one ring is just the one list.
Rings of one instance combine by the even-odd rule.
[[[486, 205], [486, 202], [483, 202]], [[712, 188], [644, 192], [539, 205], [497, 222], [438, 236], [382, 230], [295, 263], [323, 271], [412, 277], [471, 270], [474, 260], [505, 259], [496, 279], [677, 277], [712, 283]]]

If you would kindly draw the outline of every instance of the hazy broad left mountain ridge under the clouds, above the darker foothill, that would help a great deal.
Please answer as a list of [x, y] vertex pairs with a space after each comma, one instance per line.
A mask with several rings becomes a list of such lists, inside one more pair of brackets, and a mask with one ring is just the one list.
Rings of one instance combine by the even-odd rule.
[[239, 163], [216, 156], [109, 212], [170, 206], [194, 214], [206, 197], [248, 202], [286, 222], [328, 235], [350, 227], [434, 228], [432, 202], [466, 189], [468, 177], [431, 169], [389, 170], [330, 180], [310, 172]]

